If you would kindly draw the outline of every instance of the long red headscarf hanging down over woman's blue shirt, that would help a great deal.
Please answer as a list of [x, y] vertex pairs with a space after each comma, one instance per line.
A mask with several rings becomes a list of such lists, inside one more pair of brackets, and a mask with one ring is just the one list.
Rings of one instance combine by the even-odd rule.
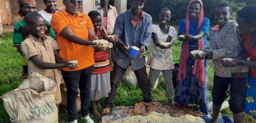
[[[197, 27], [197, 32], [199, 28], [201, 27], [203, 20], [204, 20], [204, 9], [203, 9], [203, 2], [201, 0], [191, 0], [188, 4], [187, 7], [187, 15], [186, 15], [186, 22], [185, 22], [185, 32], [186, 34], [189, 34], [189, 22], [190, 22], [190, 15], [189, 15], [189, 8], [191, 3], [194, 1], [198, 1], [201, 4], [201, 11], [198, 15], [198, 27]], [[204, 38], [202, 37], [197, 41], [197, 50], [204, 50]], [[179, 65], [179, 73], [178, 73], [178, 80], [182, 81], [182, 75], [183, 79], [185, 79], [186, 76], [186, 62], [187, 59], [189, 58], [189, 46], [188, 46], [188, 41], [185, 41], [182, 47], [181, 51], [181, 57], [180, 57], [180, 65]], [[204, 60], [199, 60], [196, 59], [193, 67], [193, 75], [197, 78], [199, 81], [199, 86], [204, 87]]]

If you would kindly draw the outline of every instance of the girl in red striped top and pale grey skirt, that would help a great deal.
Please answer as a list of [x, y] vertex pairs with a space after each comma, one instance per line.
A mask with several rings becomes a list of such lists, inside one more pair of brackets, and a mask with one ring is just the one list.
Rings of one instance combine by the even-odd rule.
[[[97, 11], [91, 11], [88, 13], [90, 17], [95, 35], [98, 36], [99, 39], [105, 39], [110, 42], [109, 48], [113, 47], [113, 43], [117, 40], [117, 36], [114, 35], [112, 38], [108, 36], [104, 27], [101, 27], [101, 15]], [[92, 104], [92, 113], [93, 117], [98, 119], [100, 118], [100, 114], [97, 111], [96, 104], [100, 105], [100, 98], [108, 97], [110, 93], [110, 73], [111, 67], [109, 65], [109, 54], [108, 50], [104, 51], [96, 51], [94, 50], [94, 69], [91, 76], [91, 88], [90, 88], [90, 101]]]

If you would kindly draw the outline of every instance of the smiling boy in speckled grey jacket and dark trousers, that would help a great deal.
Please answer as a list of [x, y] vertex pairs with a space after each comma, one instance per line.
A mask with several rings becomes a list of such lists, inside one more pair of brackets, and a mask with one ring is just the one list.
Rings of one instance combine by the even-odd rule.
[[[211, 29], [210, 49], [204, 50], [201, 55], [195, 55], [196, 59], [213, 59], [213, 120], [218, 122], [222, 103], [226, 100], [227, 90], [230, 85], [229, 107], [233, 112], [234, 123], [242, 123], [244, 108], [244, 92], [248, 78], [248, 68], [241, 65], [228, 68], [222, 64], [222, 58], [234, 58], [242, 51], [241, 38], [238, 24], [229, 20], [232, 16], [232, 5], [220, 3], [215, 7], [214, 19], [218, 25]], [[240, 71], [241, 70], [241, 71]], [[241, 72], [241, 73], [240, 73]], [[240, 76], [237, 76], [238, 73]]]

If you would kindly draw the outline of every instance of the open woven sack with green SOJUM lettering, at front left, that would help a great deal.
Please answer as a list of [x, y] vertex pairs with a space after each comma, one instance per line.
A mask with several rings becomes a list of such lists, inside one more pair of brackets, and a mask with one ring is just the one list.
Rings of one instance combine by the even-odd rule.
[[32, 73], [18, 88], [5, 93], [5, 110], [12, 123], [58, 123], [54, 101], [57, 85], [54, 81]]

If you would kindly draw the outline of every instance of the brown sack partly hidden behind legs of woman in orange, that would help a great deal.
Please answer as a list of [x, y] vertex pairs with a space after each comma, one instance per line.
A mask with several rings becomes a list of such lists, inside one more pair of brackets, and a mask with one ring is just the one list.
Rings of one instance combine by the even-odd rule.
[[[61, 75], [61, 71], [59, 71], [60, 73], [60, 77], [61, 77], [61, 85], [60, 85], [60, 88], [61, 88], [61, 103], [60, 105], [62, 106], [65, 106], [66, 108], [68, 107], [67, 105], [67, 87], [66, 87], [66, 84], [64, 82], [64, 79]], [[78, 95], [77, 95], [77, 98], [76, 98], [76, 106], [77, 106], [77, 111], [80, 111], [81, 110], [81, 99], [80, 99], [80, 90], [78, 88]]]

